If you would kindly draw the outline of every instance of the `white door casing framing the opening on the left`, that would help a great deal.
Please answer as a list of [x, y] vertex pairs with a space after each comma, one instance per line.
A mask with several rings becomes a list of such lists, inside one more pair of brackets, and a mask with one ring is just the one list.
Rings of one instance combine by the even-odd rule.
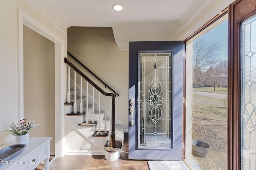
[[24, 36], [23, 27], [32, 29], [36, 33], [39, 33], [46, 39], [54, 43], [54, 106], [55, 106], [55, 156], [63, 156], [63, 136], [62, 131], [64, 123], [64, 100], [65, 100], [65, 63], [64, 60], [64, 40], [58, 37], [56, 34], [52, 33], [44, 25], [40, 24], [34, 18], [30, 17], [28, 14], [19, 9], [19, 58], [18, 58], [18, 105], [19, 105], [19, 119], [24, 118]]

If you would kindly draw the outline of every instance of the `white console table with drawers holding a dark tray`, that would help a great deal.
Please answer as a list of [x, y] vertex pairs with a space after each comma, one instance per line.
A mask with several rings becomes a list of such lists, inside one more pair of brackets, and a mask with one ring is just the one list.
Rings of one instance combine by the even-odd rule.
[[[0, 170], [34, 170], [44, 161], [44, 170], [49, 170], [51, 137], [31, 137], [26, 148], [18, 156], [0, 165]], [[14, 145], [15, 140], [0, 147]], [[7, 164], [8, 163], [8, 164]]]

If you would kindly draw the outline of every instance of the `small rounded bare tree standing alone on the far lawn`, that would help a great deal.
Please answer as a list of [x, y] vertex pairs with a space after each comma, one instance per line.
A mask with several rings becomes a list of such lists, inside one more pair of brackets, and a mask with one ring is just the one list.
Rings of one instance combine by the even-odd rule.
[[218, 84], [220, 83], [220, 75], [221, 71], [218, 69], [217, 66], [213, 67], [210, 66], [208, 68], [208, 70], [206, 71], [206, 81], [209, 85], [214, 87], [214, 91], [215, 88], [218, 86]]

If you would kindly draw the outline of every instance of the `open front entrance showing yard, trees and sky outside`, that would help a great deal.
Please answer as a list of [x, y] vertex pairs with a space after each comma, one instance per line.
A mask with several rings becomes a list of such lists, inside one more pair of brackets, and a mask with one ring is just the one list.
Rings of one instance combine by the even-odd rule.
[[192, 145], [191, 158], [202, 169], [227, 169], [227, 18], [225, 14], [186, 41], [186, 115], [192, 120], [192, 144], [199, 140], [210, 145], [203, 154]]

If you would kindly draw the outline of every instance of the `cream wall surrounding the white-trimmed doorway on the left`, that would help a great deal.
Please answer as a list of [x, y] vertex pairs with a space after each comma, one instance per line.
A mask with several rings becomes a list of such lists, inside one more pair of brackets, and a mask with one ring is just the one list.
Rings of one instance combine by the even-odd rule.
[[[30, 6], [26, 0], [0, 0], [2, 23], [0, 27], [0, 131], [9, 129], [12, 121], [16, 123], [19, 119], [19, 9], [63, 39], [65, 51], [67, 45], [67, 35]], [[38, 118], [35, 119], [38, 120]], [[12, 135], [6, 137], [5, 133], [0, 133], [0, 146], [14, 139]]]

